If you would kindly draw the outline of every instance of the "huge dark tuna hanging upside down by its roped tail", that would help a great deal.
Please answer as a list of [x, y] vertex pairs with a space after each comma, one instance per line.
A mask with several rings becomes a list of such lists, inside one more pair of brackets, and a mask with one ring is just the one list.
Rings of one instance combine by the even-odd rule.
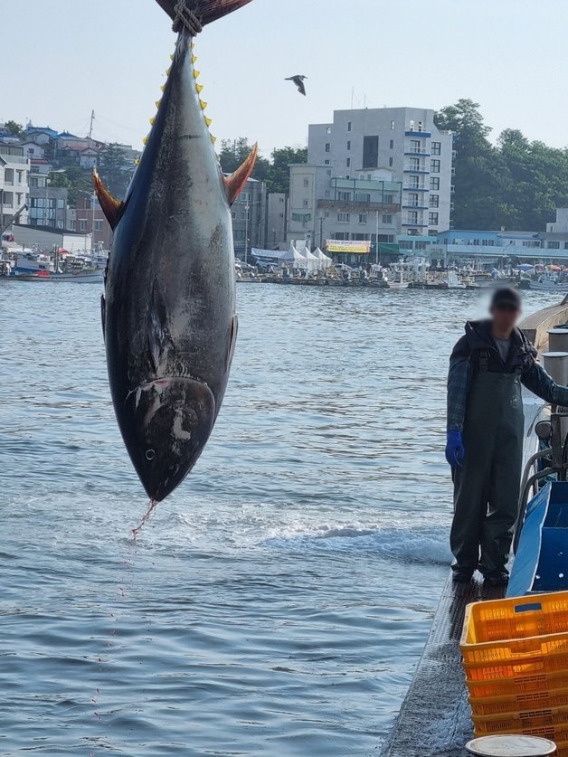
[[221, 407], [237, 336], [230, 207], [256, 147], [222, 175], [194, 70], [193, 37], [250, 0], [157, 0], [179, 33], [147, 147], [124, 202], [98, 175], [115, 231], [102, 301], [118, 426], [148, 496], [194, 467]]

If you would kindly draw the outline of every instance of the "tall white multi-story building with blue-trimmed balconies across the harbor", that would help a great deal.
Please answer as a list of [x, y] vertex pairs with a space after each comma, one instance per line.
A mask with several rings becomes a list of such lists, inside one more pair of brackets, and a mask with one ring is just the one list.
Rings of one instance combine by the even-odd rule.
[[450, 228], [453, 137], [434, 110], [336, 110], [291, 166], [289, 239], [392, 242]]

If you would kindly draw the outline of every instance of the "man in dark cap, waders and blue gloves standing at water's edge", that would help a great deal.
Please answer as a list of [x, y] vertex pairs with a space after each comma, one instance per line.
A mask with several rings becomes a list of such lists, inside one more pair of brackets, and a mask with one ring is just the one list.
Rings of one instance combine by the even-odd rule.
[[454, 479], [450, 545], [455, 582], [479, 570], [506, 585], [522, 474], [521, 384], [545, 402], [568, 406], [559, 386], [536, 363], [536, 350], [516, 327], [516, 289], [497, 289], [490, 318], [469, 321], [450, 357], [446, 459]]

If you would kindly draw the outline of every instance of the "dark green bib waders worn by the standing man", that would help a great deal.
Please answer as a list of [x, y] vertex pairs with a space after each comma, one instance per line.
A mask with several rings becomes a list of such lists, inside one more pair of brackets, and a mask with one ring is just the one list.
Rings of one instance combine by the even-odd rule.
[[456, 567], [502, 570], [509, 558], [523, 465], [520, 371], [488, 371], [482, 357], [468, 396], [463, 468], [454, 471], [450, 545]]

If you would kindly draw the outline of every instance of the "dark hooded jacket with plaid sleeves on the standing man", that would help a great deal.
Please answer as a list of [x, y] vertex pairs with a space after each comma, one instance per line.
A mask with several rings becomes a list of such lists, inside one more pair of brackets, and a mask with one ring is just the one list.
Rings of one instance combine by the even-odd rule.
[[512, 346], [503, 361], [493, 336], [491, 321], [468, 321], [465, 336], [453, 348], [448, 374], [448, 431], [463, 431], [471, 379], [481, 361], [487, 370], [500, 374], [518, 372], [522, 383], [545, 402], [568, 406], [568, 387], [559, 386], [537, 362], [535, 347], [516, 328]]

